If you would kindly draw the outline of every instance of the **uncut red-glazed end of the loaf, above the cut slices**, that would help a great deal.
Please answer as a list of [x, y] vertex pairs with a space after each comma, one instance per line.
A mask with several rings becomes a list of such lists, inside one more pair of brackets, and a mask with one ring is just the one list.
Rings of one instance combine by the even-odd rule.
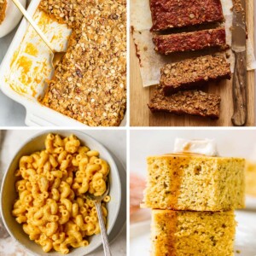
[[220, 0], [150, 0], [151, 31], [223, 22]]

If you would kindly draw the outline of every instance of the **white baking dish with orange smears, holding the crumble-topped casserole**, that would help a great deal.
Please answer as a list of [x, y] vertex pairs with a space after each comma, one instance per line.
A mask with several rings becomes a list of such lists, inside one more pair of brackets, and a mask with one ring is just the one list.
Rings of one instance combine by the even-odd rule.
[[[56, 48], [65, 50], [67, 48], [67, 37], [71, 30], [66, 25], [58, 24], [52, 20], [50, 22], [45, 21], [46, 16], [38, 10], [39, 3], [40, 0], [33, 0], [30, 3], [27, 9], [29, 15], [32, 15], [36, 22], [39, 20], [40, 28]], [[43, 22], [42, 15], [44, 15]], [[49, 21], [49, 18], [46, 20]], [[33, 45], [32, 48], [36, 48], [36, 54], [27, 54], [29, 50], [33, 51], [33, 49], [26, 50], [29, 43]], [[26, 125], [87, 126], [53, 109], [44, 107], [38, 102], [38, 96], [44, 95], [45, 79], [49, 79], [52, 75], [49, 55], [48, 47], [33, 31], [32, 26], [28, 26], [28, 22], [24, 18], [2, 61], [0, 67], [0, 89], [6, 96], [26, 108]], [[21, 57], [26, 61], [21, 63]], [[19, 61], [21, 64], [19, 64]], [[26, 62], [29, 62], [29, 65]], [[30, 66], [30, 64], [32, 65]], [[15, 90], [11, 87], [15, 88]], [[125, 119], [122, 121], [121, 126], [126, 125]]]

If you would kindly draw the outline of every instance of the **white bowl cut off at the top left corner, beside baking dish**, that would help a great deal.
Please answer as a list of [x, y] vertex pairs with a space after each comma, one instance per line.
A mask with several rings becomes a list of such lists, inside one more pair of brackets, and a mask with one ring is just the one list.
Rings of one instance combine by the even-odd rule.
[[[23, 7], [26, 6], [26, 0], [20, 0]], [[12, 0], [7, 0], [7, 8], [5, 11], [5, 19], [0, 24], [0, 38], [8, 35], [15, 29], [22, 17], [20, 10], [16, 8], [15, 3]]]

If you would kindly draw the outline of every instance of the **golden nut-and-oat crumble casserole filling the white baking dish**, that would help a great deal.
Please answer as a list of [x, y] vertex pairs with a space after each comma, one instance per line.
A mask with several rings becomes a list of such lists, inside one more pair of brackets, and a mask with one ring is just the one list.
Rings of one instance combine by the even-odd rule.
[[125, 0], [43, 0], [39, 8], [73, 28], [42, 103], [90, 126], [116, 126], [126, 108]]

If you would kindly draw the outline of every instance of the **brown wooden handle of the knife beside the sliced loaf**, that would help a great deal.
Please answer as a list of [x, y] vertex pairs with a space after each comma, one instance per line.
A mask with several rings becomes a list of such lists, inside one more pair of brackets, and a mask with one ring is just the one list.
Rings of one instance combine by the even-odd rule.
[[233, 77], [234, 114], [232, 123], [235, 126], [247, 123], [247, 57], [246, 51], [235, 52], [236, 62]]

